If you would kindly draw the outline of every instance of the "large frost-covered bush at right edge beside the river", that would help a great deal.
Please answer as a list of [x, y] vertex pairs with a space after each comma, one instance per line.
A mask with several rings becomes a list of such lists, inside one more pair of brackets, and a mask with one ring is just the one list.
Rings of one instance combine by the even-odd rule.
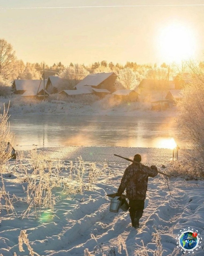
[[193, 63], [188, 63], [188, 67], [194, 79], [182, 90], [183, 99], [179, 102], [178, 122], [185, 139], [192, 146], [188, 156], [191, 166], [196, 174], [204, 176], [204, 70]]

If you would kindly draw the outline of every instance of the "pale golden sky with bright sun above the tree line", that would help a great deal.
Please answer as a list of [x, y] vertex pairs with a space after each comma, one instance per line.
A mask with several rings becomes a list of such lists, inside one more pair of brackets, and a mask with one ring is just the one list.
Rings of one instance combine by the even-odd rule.
[[0, 37], [18, 59], [48, 65], [199, 61], [203, 12], [204, 0], [1, 0]]

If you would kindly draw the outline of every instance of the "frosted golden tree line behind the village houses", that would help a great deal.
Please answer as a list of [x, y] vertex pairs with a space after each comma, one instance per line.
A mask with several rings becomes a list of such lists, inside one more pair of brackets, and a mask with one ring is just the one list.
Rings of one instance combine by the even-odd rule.
[[[178, 66], [172, 63], [168, 66], [166, 63], [157, 66], [151, 64], [137, 64], [127, 61], [125, 65], [120, 63], [107, 62], [101, 60], [90, 65], [70, 62], [68, 66], [61, 62], [48, 66], [44, 62], [24, 63], [18, 60], [13, 46], [5, 39], [0, 39], [0, 77], [1, 84], [3, 80], [13, 81], [14, 79], [40, 79], [43, 75], [43, 64], [45, 65], [45, 78], [50, 75], [58, 75], [66, 80], [62, 84], [63, 89], [72, 89], [76, 83], [82, 80], [88, 74], [101, 72], [114, 72], [118, 75], [116, 80], [117, 88], [134, 89], [143, 79], [169, 80], [179, 71], [185, 71], [186, 66], [183, 63]], [[202, 65], [202, 63], [200, 64]], [[2, 80], [3, 79], [3, 80]]]

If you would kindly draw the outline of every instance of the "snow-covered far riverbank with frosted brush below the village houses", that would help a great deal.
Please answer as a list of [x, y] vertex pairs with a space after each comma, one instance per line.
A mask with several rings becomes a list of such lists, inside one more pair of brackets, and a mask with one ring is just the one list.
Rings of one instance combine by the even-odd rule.
[[[8, 106], [9, 114], [66, 114], [68, 116], [137, 116], [137, 117], [175, 117], [177, 107], [166, 111], [151, 111], [151, 103], [143, 102], [115, 102], [109, 95], [104, 99], [98, 99], [93, 95], [83, 95], [68, 101], [60, 100], [39, 101], [35, 99], [22, 99], [21, 95], [13, 95], [12, 98], [0, 98], [0, 107], [3, 103]], [[89, 97], [89, 98], [87, 98]], [[66, 101], [65, 101], [66, 100]]]

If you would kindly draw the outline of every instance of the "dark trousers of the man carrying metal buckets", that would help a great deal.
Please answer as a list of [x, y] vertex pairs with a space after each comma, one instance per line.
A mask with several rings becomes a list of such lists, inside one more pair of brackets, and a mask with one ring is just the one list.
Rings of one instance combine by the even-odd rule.
[[145, 200], [129, 199], [129, 206], [130, 218], [132, 226], [134, 226], [134, 219], [137, 218], [139, 220], [142, 217], [143, 210], [145, 207]]

